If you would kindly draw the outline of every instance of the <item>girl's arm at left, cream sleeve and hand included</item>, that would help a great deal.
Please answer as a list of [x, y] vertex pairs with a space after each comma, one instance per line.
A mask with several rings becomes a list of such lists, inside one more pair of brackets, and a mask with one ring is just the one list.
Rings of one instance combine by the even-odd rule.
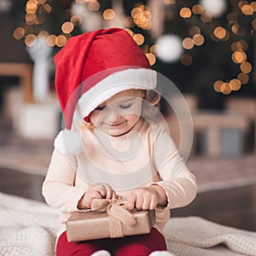
[[[75, 212], [90, 208], [94, 198], [115, 199], [117, 196], [107, 183], [95, 183], [86, 188], [75, 185], [76, 160], [56, 151], [43, 183], [45, 201], [62, 212]], [[85, 185], [84, 185], [85, 186]]]

